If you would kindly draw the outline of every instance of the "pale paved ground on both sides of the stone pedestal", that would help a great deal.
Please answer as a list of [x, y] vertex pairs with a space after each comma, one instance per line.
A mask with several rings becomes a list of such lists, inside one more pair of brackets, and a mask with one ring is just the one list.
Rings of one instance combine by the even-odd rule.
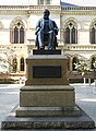
[[[23, 84], [0, 84], [0, 123], [1, 120], [19, 104], [20, 87]], [[76, 104], [95, 121], [96, 124], [96, 87], [94, 84], [71, 84], [75, 87]], [[5, 130], [3, 130], [5, 131]], [[9, 130], [7, 130], [9, 131]], [[10, 130], [11, 131], [11, 130]], [[20, 130], [17, 130], [20, 131]], [[40, 131], [40, 130], [21, 130], [21, 131]], [[44, 130], [41, 130], [44, 131]], [[73, 130], [46, 130], [46, 131], [73, 131]], [[96, 131], [74, 130], [74, 131]]]

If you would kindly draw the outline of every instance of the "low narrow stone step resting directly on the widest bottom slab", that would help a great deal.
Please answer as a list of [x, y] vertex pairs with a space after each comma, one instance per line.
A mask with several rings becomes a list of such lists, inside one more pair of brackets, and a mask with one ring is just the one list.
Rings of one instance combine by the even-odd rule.
[[80, 109], [65, 107], [19, 107], [16, 117], [77, 117], [81, 116]]

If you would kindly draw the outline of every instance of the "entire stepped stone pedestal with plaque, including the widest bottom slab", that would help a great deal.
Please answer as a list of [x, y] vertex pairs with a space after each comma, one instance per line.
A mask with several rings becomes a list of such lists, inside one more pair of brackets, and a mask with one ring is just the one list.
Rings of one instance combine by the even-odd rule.
[[2, 121], [2, 129], [94, 128], [94, 121], [75, 105], [67, 57], [60, 50], [51, 55], [56, 52], [38, 51], [26, 59], [27, 80], [20, 90], [20, 105]]

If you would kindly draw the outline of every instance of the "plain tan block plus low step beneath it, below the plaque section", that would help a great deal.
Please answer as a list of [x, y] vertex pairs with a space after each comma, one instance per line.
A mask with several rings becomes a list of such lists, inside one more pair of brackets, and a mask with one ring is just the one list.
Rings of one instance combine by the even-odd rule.
[[74, 88], [69, 85], [24, 86], [20, 92], [17, 117], [80, 116]]

